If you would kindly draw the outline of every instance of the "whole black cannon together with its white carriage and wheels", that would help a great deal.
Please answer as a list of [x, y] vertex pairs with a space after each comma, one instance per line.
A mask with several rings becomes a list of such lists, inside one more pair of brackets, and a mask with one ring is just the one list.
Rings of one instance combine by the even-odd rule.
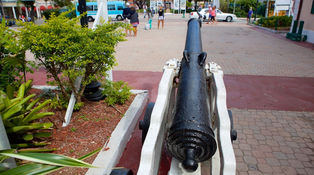
[[226, 107], [223, 72], [213, 62], [205, 64], [201, 25], [199, 19], [189, 20], [182, 61], [172, 59], [164, 66], [156, 102], [148, 104], [140, 122], [138, 174], [158, 174], [165, 140], [173, 156], [169, 174], [201, 174], [200, 162], [210, 158], [212, 174], [236, 172], [236, 131]]

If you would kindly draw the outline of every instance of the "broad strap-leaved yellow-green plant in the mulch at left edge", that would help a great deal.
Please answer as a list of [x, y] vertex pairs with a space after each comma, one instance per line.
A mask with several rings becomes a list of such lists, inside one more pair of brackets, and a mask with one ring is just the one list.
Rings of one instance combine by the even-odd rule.
[[[53, 115], [54, 113], [39, 112], [50, 100], [37, 105], [36, 103], [39, 102], [40, 98], [32, 101], [31, 99], [35, 94], [26, 96], [31, 87], [31, 82], [32, 80], [29, 80], [21, 84], [16, 98], [13, 98], [13, 95], [7, 95], [0, 91], [0, 114], [10, 144], [25, 143], [25, 141], [33, 140], [35, 137], [51, 136], [51, 133], [38, 131], [52, 127], [52, 123], [32, 123], [36, 119]], [[15, 84], [9, 88], [15, 89]], [[10, 91], [7, 90], [7, 92]]]

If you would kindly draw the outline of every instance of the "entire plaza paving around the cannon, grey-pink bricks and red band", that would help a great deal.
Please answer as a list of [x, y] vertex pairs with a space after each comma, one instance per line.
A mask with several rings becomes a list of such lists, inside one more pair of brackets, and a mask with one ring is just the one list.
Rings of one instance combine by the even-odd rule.
[[[149, 90], [149, 102], [155, 102], [166, 61], [182, 59], [189, 18], [166, 14], [163, 30], [156, 29], [156, 16], [151, 30], [144, 29], [147, 19], [139, 19], [137, 37], [116, 47], [113, 79]], [[206, 63], [217, 63], [225, 74], [227, 107], [238, 133], [236, 174], [314, 174], [314, 50], [243, 20], [202, 24], [201, 34]], [[45, 85], [42, 71], [28, 76]], [[117, 167], [136, 174], [140, 153], [141, 131], [135, 127]], [[170, 162], [164, 149], [160, 174], [168, 173]], [[209, 168], [203, 162], [202, 174]]]

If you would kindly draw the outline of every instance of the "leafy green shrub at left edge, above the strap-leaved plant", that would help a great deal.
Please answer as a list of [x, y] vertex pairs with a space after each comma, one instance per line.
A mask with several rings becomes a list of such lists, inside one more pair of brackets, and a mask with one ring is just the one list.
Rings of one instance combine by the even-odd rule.
[[36, 67], [34, 61], [25, 61], [25, 49], [23, 49], [16, 40], [17, 32], [5, 26], [5, 20], [0, 26], [0, 90], [5, 91], [8, 84], [17, 84], [16, 78], [19, 79], [20, 72], [33, 73], [31, 67]]

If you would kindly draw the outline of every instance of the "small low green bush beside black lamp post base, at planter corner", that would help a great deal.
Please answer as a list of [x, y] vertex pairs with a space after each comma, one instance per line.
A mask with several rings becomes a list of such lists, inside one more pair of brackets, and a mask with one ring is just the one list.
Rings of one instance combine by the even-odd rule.
[[104, 90], [101, 92], [106, 95], [105, 101], [108, 105], [116, 104], [116, 103], [124, 103], [126, 100], [129, 100], [131, 86], [127, 85], [128, 83], [124, 83], [122, 81], [113, 82], [110, 80], [106, 80], [106, 84], [101, 85], [101, 88]]

